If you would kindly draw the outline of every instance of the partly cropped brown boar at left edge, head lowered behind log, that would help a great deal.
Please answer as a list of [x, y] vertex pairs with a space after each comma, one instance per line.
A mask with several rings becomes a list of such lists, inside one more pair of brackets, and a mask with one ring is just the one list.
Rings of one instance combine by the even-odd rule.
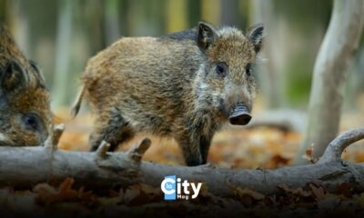
[[0, 145], [41, 145], [51, 129], [49, 94], [41, 72], [0, 24]]

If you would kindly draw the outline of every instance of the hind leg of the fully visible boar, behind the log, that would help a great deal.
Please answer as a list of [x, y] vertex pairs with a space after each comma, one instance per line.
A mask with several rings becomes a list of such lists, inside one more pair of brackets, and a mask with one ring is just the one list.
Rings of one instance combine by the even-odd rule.
[[91, 151], [97, 150], [102, 141], [110, 144], [110, 152], [116, 150], [117, 145], [126, 142], [134, 136], [134, 131], [121, 115], [120, 111], [113, 107], [106, 114], [100, 114], [95, 123], [95, 129], [90, 135]]

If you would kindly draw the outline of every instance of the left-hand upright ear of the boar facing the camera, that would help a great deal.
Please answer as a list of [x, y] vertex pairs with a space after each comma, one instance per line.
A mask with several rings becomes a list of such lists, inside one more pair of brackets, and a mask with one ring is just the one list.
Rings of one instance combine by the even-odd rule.
[[206, 50], [213, 45], [217, 38], [217, 30], [214, 26], [205, 22], [199, 22], [197, 26], [197, 45], [201, 50]]

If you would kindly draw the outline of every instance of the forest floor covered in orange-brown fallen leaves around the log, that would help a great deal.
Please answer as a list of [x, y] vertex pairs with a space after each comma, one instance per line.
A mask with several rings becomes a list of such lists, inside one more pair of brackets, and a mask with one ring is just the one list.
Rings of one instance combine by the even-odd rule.
[[[59, 117], [68, 117], [66, 110], [58, 110]], [[363, 124], [362, 114], [345, 114], [340, 131]], [[66, 124], [59, 149], [72, 151], [88, 150], [88, 134], [92, 129], [93, 116], [80, 114], [75, 120], [58, 118]], [[141, 137], [121, 146], [118, 151], [126, 151]], [[152, 145], [143, 157], [155, 163], [184, 164], [182, 154], [172, 139], [150, 136]], [[288, 166], [298, 152], [302, 135], [282, 131], [272, 127], [227, 127], [218, 132], [209, 151], [208, 162], [224, 168], [257, 169]], [[364, 162], [364, 142], [349, 146], [343, 157], [350, 162]], [[314, 183], [304, 189], [291, 190], [282, 184], [280, 195], [257, 193], [249, 187], [236, 189], [231, 199], [220, 198], [203, 190], [196, 200], [163, 200], [160, 188], [138, 184], [120, 190], [108, 190], [98, 194], [93, 190], [73, 187], [72, 178], [60, 185], [46, 183], [36, 185], [31, 190], [14, 190], [12, 187], [0, 189], [0, 216], [2, 209], [17, 213], [66, 213], [73, 216], [98, 216], [132, 213], [135, 216], [149, 215], [185, 217], [204, 214], [215, 217], [218, 214], [246, 214], [248, 216], [270, 216], [279, 213], [282, 217], [301, 214], [323, 216], [355, 216], [364, 213], [364, 193], [352, 193], [347, 183], [338, 186], [337, 193], [329, 193]], [[19, 210], [22, 208], [22, 210]], [[243, 210], [237, 210], [241, 208]], [[331, 210], [334, 208], [334, 210]], [[330, 209], [330, 210], [325, 210]], [[325, 211], [325, 212], [323, 212]]]

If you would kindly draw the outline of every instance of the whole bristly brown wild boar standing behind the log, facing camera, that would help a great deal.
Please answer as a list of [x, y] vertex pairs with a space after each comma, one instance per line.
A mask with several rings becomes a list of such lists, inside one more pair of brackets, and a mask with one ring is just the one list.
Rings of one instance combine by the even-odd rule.
[[96, 112], [92, 151], [103, 140], [114, 151], [147, 132], [175, 138], [187, 165], [206, 163], [222, 124], [251, 119], [262, 39], [262, 25], [243, 34], [204, 22], [162, 37], [124, 37], [88, 61], [72, 113], [83, 97]]

